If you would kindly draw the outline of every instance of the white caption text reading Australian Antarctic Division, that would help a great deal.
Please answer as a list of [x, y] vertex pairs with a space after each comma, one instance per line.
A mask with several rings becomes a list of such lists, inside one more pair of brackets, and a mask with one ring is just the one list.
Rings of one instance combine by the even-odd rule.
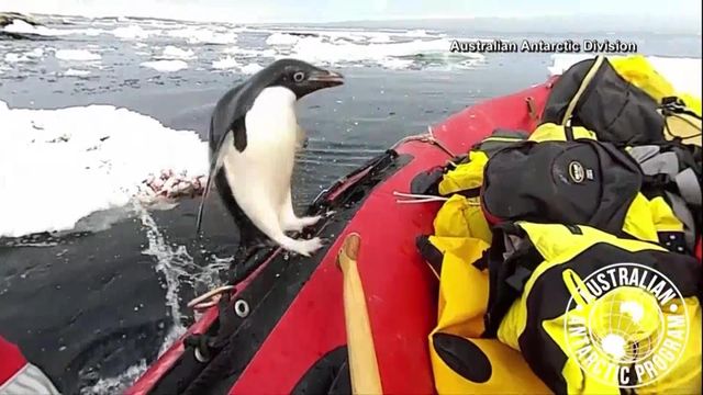
[[450, 52], [461, 53], [636, 53], [637, 43], [620, 40], [563, 40], [557, 42], [473, 40], [451, 41]]

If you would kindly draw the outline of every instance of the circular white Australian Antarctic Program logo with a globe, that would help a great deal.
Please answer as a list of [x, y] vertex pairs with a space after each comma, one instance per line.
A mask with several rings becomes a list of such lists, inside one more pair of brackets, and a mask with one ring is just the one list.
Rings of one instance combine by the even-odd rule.
[[572, 291], [566, 345], [587, 377], [621, 388], [670, 373], [687, 348], [689, 315], [677, 286], [639, 263], [599, 269]]

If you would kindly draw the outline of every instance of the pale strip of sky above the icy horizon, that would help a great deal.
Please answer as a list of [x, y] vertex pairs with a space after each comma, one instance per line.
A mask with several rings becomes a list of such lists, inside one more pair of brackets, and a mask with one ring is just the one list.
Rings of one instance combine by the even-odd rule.
[[0, 0], [0, 11], [232, 22], [629, 14], [696, 19], [701, 0]]

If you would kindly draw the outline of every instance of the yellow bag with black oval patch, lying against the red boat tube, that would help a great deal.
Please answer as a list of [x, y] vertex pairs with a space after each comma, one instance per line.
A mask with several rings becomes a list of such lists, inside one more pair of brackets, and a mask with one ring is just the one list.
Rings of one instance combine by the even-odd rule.
[[421, 253], [439, 276], [437, 326], [429, 356], [438, 394], [545, 394], [549, 390], [520, 352], [496, 339], [483, 339], [488, 273], [471, 262], [488, 244], [477, 238], [422, 236]]

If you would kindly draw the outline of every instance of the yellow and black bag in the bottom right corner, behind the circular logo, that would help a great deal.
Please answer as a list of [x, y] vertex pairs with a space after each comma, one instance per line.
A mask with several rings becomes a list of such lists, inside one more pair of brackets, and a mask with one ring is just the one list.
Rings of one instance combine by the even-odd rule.
[[695, 258], [588, 226], [502, 229], [486, 337], [521, 351], [555, 393], [701, 393]]

